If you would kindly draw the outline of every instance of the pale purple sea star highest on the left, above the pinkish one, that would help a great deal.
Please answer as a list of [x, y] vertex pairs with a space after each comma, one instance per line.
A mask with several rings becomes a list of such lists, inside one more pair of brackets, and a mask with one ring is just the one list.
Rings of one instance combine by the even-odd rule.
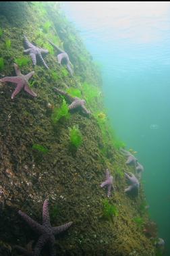
[[42, 55], [41, 55], [41, 53], [49, 53], [49, 51], [46, 49], [38, 48], [35, 45], [32, 45], [32, 43], [28, 41], [26, 36], [24, 36], [24, 43], [26, 44], [27, 47], [29, 47], [28, 49], [24, 50], [24, 53], [30, 54], [33, 65], [36, 65], [36, 56], [38, 56], [42, 61], [43, 65], [45, 66], [45, 68], [49, 69], [49, 67], [47, 66], [47, 64], [45, 63], [45, 60], [42, 58]]

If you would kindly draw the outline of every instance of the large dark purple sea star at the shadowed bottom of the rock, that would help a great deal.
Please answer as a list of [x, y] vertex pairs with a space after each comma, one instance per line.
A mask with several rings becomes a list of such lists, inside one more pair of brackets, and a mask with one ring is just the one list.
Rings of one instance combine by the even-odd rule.
[[40, 235], [34, 248], [34, 256], [40, 255], [40, 251], [45, 246], [45, 244], [49, 245], [49, 255], [55, 256], [55, 234], [59, 234], [67, 230], [67, 228], [69, 228], [69, 226], [71, 226], [73, 223], [67, 222], [61, 226], [51, 227], [48, 204], [49, 202], [46, 199], [42, 208], [42, 225], [32, 220], [32, 218], [29, 217], [26, 213], [18, 211], [18, 213], [30, 225], [30, 227]]

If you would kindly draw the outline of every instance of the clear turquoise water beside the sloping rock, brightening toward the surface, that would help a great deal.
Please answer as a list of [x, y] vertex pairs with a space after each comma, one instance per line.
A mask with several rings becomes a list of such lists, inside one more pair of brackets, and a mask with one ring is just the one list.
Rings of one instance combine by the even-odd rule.
[[170, 3], [65, 2], [103, 74], [109, 118], [138, 151], [150, 217], [170, 255]]

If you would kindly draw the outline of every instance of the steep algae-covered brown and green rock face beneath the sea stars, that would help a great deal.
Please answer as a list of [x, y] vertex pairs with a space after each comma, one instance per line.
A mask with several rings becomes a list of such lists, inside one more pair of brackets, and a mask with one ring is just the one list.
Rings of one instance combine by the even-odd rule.
[[[0, 28], [3, 30], [0, 57], [5, 63], [0, 78], [15, 75], [14, 59], [26, 57], [22, 54], [24, 33], [32, 43], [49, 50], [46, 56], [49, 70], [44, 66], [33, 67], [31, 61], [20, 64], [22, 74], [34, 70], [30, 87], [37, 93], [36, 98], [21, 91], [11, 101], [12, 84], [0, 83], [0, 252], [16, 256], [15, 246], [26, 248], [30, 240], [37, 240], [21, 220], [18, 210], [40, 223], [42, 203], [49, 198], [51, 226], [60, 226], [69, 220], [74, 223], [65, 234], [57, 237], [57, 255], [128, 256], [134, 252], [154, 255], [150, 238], [133, 220], [136, 216], [148, 220], [146, 211], [140, 211], [144, 204], [142, 186], [138, 197], [125, 195], [125, 157], [113, 146], [108, 125], [96, 118], [95, 111], [103, 111], [102, 93], [95, 94], [101, 90], [101, 76], [90, 54], [55, 2], [23, 2], [21, 5], [16, 2], [15, 22], [7, 11], [10, 3], [0, 3]], [[15, 14], [15, 9], [13, 12]], [[47, 34], [55, 37], [69, 54], [74, 66], [73, 77], [57, 63]], [[11, 41], [11, 47], [6, 47], [7, 40]], [[54, 93], [54, 86], [62, 91], [77, 93], [78, 90], [81, 97], [72, 96], [85, 99], [93, 115], [82, 115], [75, 110], [69, 119], [61, 118], [53, 124], [51, 114], [54, 109], [60, 109], [63, 101]], [[77, 124], [83, 142], [75, 150], [69, 144], [69, 128]], [[108, 200], [118, 212], [113, 222], [100, 217], [106, 198], [100, 184], [103, 170], [107, 168], [115, 186]], [[126, 172], [135, 172], [134, 167], [128, 166]]]

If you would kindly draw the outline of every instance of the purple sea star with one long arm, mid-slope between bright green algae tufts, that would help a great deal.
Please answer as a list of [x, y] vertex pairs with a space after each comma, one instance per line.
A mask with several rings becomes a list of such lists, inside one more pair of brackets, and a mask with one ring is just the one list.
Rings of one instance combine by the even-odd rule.
[[85, 107], [85, 104], [86, 104], [86, 101], [84, 99], [80, 99], [78, 97], [72, 97], [70, 95], [68, 95], [67, 93], [65, 93], [64, 91], [61, 91], [59, 90], [58, 88], [54, 88], [54, 90], [61, 94], [61, 95], [64, 95], [65, 97], [67, 97], [67, 99], [69, 101], [71, 101], [72, 103], [69, 105], [69, 109], [76, 109], [77, 107], [80, 107], [82, 109], [82, 111], [86, 114], [90, 114], [91, 112], [89, 110], [86, 109]]

